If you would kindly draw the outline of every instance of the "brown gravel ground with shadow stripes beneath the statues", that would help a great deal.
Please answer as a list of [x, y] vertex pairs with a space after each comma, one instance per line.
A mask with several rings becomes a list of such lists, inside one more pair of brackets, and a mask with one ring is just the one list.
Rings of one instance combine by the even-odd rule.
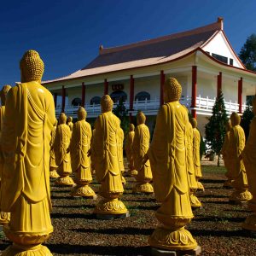
[[[231, 190], [222, 188], [224, 167], [203, 166], [203, 175], [206, 191], [197, 193], [203, 208], [194, 212], [195, 218], [187, 227], [201, 246], [201, 255], [256, 255], [256, 238], [241, 230], [250, 211], [246, 205], [229, 204]], [[134, 179], [125, 178], [121, 200], [131, 217], [115, 220], [94, 218], [91, 213], [97, 200], [73, 199], [69, 188], [51, 183], [55, 231], [45, 245], [54, 255], [150, 255], [147, 241], [158, 224], [154, 211], [159, 204], [154, 195], [133, 195]], [[91, 186], [98, 191], [98, 183]], [[9, 241], [3, 232], [0, 236], [3, 250]]]

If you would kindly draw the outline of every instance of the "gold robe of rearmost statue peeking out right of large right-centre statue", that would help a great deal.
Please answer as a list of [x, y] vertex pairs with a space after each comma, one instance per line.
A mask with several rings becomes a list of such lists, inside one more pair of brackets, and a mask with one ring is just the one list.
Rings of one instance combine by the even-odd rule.
[[200, 132], [193, 128], [193, 157], [194, 157], [194, 168], [195, 177], [202, 177], [201, 175], [201, 161], [200, 161], [200, 142], [201, 136]]

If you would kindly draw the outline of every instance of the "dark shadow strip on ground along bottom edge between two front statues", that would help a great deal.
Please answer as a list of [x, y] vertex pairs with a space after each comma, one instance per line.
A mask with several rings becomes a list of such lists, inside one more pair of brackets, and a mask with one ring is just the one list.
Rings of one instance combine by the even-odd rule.
[[46, 245], [51, 253], [81, 255], [150, 255], [150, 247], [125, 247], [125, 246], [96, 246], [96, 245], [68, 245], [68, 244], [49, 244]]

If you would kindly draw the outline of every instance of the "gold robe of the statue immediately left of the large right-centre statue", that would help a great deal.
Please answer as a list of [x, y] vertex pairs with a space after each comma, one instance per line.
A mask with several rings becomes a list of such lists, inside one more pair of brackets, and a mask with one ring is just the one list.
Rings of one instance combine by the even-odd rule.
[[149, 160], [143, 164], [145, 154], [149, 148], [150, 133], [145, 124], [137, 125], [132, 143], [132, 154], [134, 155], [134, 167], [137, 170], [137, 181], [152, 179], [152, 172]]

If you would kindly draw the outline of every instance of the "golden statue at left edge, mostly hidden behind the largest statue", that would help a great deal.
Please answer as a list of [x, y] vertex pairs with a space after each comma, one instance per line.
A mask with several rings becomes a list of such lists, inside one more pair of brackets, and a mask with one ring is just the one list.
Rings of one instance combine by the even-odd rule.
[[[12, 87], [10, 85], [3, 85], [3, 88], [0, 91], [1, 105], [2, 105], [0, 107], [0, 137], [1, 137], [1, 131], [3, 130], [3, 117], [5, 112], [6, 95], [11, 88]], [[1, 188], [1, 177], [3, 172], [3, 162], [4, 162], [3, 153], [0, 151], [0, 188]], [[10, 217], [9, 212], [0, 212], [0, 225], [8, 224], [9, 217]]]

